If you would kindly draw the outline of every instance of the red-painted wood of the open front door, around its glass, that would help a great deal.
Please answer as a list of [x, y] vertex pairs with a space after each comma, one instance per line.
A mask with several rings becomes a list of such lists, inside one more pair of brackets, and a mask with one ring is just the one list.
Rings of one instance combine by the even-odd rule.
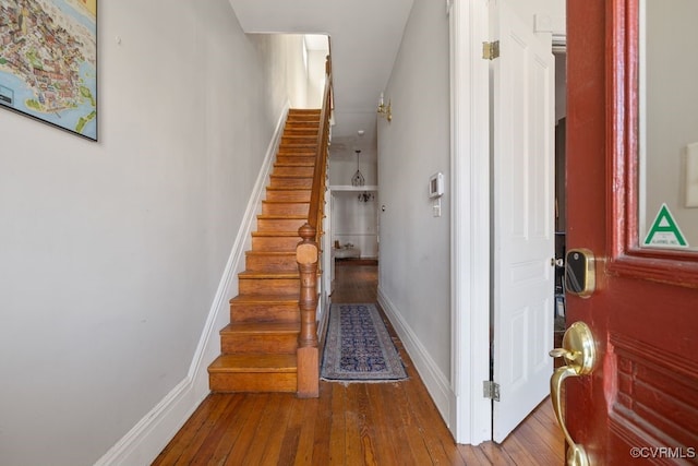
[[598, 361], [564, 411], [592, 465], [698, 464], [698, 251], [638, 246], [638, 1], [567, 1], [567, 248], [595, 255], [567, 323]]

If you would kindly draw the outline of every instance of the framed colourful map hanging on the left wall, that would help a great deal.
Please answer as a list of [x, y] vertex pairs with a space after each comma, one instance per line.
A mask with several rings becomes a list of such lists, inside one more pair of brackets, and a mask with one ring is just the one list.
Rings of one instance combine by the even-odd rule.
[[97, 141], [97, 0], [0, 0], [0, 107]]

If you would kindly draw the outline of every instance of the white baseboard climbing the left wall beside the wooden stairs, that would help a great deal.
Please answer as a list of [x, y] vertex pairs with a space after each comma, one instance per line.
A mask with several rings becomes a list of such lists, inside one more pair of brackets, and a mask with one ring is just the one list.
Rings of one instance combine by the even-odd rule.
[[274, 136], [267, 147], [262, 169], [248, 202], [243, 222], [232, 244], [224, 275], [214, 297], [206, 324], [184, 380], [168, 393], [95, 465], [149, 465], [181, 429], [201, 402], [208, 395], [208, 365], [220, 354], [218, 330], [230, 320], [229, 300], [238, 292], [238, 272], [244, 268], [244, 252], [249, 249], [269, 172], [284, 132], [288, 105], [281, 111]]

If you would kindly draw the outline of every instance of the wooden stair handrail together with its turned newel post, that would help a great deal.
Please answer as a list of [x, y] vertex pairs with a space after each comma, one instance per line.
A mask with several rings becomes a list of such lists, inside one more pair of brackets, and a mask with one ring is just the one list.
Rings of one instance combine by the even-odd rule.
[[298, 391], [302, 398], [316, 398], [320, 395], [320, 360], [317, 348], [317, 271], [318, 244], [323, 235], [323, 211], [325, 205], [325, 180], [329, 147], [329, 118], [332, 116], [332, 62], [329, 56], [325, 62], [325, 89], [320, 111], [317, 130], [317, 150], [311, 189], [308, 223], [298, 234], [301, 241], [296, 248], [296, 261], [301, 282], [299, 309], [301, 331], [298, 337], [297, 368]]

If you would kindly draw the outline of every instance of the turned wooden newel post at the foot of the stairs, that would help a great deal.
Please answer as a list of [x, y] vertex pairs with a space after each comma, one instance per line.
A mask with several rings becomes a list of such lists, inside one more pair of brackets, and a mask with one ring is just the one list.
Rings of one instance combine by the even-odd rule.
[[298, 396], [316, 398], [320, 395], [320, 365], [317, 351], [317, 243], [316, 230], [309, 224], [298, 230], [302, 241], [296, 248], [301, 279], [299, 308], [301, 332], [298, 337]]

